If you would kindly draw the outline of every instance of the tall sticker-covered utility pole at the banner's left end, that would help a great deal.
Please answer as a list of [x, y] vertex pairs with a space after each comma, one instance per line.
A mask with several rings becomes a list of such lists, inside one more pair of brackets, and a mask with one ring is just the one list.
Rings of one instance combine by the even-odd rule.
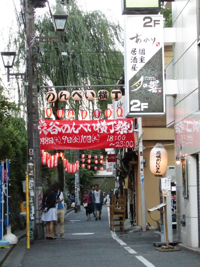
[[[37, 61], [35, 58], [35, 9], [45, 7], [46, 1], [21, 0], [26, 18], [27, 57], [27, 114], [28, 114], [28, 166], [34, 164], [34, 176], [29, 175], [30, 242], [44, 238], [42, 216], [42, 181], [39, 138], [39, 112], [37, 91]], [[34, 177], [34, 179], [33, 179]], [[30, 190], [33, 186], [34, 190]], [[34, 192], [33, 192], [34, 191]]]

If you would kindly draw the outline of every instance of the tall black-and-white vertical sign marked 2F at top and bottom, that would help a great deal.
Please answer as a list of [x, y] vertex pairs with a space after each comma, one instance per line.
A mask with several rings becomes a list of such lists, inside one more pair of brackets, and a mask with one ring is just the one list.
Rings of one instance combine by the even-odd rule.
[[127, 16], [124, 43], [127, 117], [165, 114], [163, 16]]

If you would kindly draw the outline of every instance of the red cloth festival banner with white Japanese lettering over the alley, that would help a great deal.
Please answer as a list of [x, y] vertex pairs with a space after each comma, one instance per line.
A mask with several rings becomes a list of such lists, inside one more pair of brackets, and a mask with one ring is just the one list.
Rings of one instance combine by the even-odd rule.
[[134, 118], [73, 121], [39, 120], [40, 149], [133, 148]]

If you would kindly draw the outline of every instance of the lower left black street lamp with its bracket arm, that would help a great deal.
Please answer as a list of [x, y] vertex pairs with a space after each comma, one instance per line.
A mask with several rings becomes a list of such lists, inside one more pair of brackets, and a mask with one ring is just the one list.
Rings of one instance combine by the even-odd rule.
[[3, 60], [4, 68], [8, 69], [7, 70], [8, 82], [10, 81], [10, 76], [15, 76], [15, 78], [17, 76], [21, 76], [20, 78], [23, 79], [22, 76], [24, 76], [25, 73], [10, 73], [10, 68], [13, 67], [15, 62], [16, 52], [1, 52], [1, 57]]

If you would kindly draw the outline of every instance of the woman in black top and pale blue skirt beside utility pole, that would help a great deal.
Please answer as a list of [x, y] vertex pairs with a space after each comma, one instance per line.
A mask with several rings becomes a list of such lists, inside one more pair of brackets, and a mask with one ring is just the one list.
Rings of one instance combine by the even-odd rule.
[[42, 218], [41, 220], [46, 222], [47, 239], [54, 240], [53, 237], [53, 223], [57, 221], [56, 211], [56, 187], [51, 185], [44, 193], [42, 198]]

